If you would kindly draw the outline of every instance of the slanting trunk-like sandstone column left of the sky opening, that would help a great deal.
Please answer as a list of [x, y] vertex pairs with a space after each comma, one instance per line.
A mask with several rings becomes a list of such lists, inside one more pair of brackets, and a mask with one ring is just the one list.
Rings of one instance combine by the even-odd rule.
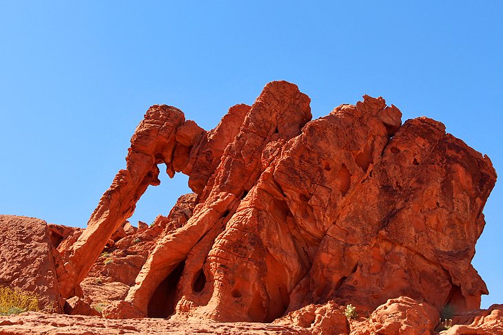
[[114, 231], [132, 216], [147, 187], [160, 184], [157, 164], [165, 163], [167, 173], [174, 175], [171, 162], [176, 129], [184, 122], [185, 116], [175, 107], [154, 105], [148, 109], [131, 138], [126, 169], [117, 173], [92, 213], [88, 228], [66, 253], [64, 269], [59, 270], [63, 296], [70, 298], [78, 292], [79, 283]]

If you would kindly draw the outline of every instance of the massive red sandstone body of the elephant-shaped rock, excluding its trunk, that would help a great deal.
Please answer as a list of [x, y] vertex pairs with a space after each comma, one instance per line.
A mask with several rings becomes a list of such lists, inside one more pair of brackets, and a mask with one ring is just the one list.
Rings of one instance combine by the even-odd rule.
[[491, 162], [440, 122], [400, 127], [400, 116], [366, 96], [307, 123], [306, 96], [267, 85], [121, 316], [272, 321], [313, 302], [373, 310], [397, 296], [478, 307], [486, 288], [470, 261]]

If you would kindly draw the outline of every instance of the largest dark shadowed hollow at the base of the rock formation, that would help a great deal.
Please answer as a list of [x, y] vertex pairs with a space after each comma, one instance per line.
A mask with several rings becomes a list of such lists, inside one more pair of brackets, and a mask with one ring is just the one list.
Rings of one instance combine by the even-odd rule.
[[174, 313], [176, 307], [176, 288], [183, 274], [185, 261], [181, 262], [157, 286], [152, 299], [148, 303], [147, 316], [149, 318], [167, 318]]

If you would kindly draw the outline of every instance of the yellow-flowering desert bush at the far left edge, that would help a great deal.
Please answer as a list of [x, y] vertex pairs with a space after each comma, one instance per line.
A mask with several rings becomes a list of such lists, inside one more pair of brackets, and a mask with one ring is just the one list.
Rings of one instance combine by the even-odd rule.
[[39, 299], [19, 288], [0, 287], [0, 315], [38, 312]]

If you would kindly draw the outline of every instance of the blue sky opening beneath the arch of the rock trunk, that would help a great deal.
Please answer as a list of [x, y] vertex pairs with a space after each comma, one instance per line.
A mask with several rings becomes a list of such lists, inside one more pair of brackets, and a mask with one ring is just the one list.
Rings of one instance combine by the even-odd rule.
[[178, 197], [192, 193], [188, 186], [189, 177], [187, 175], [176, 173], [171, 179], [165, 172], [166, 166], [164, 164], [158, 167], [160, 170], [158, 178], [161, 180], [161, 185], [149, 186], [136, 202], [136, 209], [132, 217], [127, 219], [133, 226], [136, 226], [138, 221], [151, 224], [159, 214], [167, 216], [176, 204]]

